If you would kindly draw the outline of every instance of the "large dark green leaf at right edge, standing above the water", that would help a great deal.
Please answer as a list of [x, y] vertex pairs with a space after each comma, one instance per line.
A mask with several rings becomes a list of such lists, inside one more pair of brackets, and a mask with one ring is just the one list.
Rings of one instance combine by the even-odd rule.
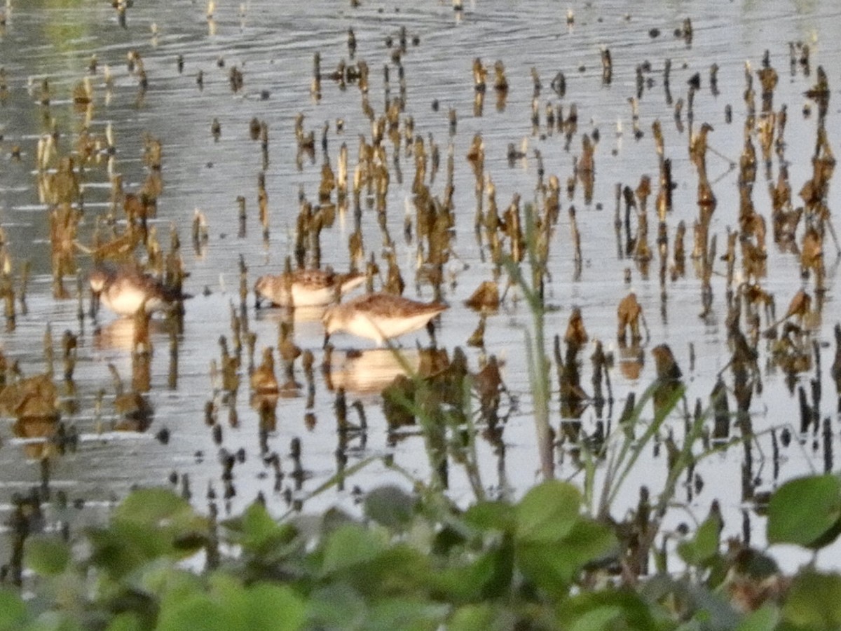
[[838, 536], [841, 480], [812, 475], [789, 480], [771, 496], [767, 534], [770, 544], [822, 548]]

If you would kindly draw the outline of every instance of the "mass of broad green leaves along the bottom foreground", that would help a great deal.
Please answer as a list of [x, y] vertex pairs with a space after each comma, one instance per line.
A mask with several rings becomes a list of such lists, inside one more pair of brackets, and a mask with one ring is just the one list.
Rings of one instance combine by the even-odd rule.
[[[839, 523], [832, 475], [792, 480], [768, 506], [772, 543], [818, 549]], [[783, 577], [767, 554], [725, 552], [713, 519], [678, 545], [681, 575], [621, 575], [622, 539], [558, 481], [466, 511], [383, 487], [363, 520], [279, 522], [255, 503], [218, 525], [138, 490], [79, 541], [26, 540], [34, 597], [0, 591], [0, 631], [841, 628], [841, 575]]]

